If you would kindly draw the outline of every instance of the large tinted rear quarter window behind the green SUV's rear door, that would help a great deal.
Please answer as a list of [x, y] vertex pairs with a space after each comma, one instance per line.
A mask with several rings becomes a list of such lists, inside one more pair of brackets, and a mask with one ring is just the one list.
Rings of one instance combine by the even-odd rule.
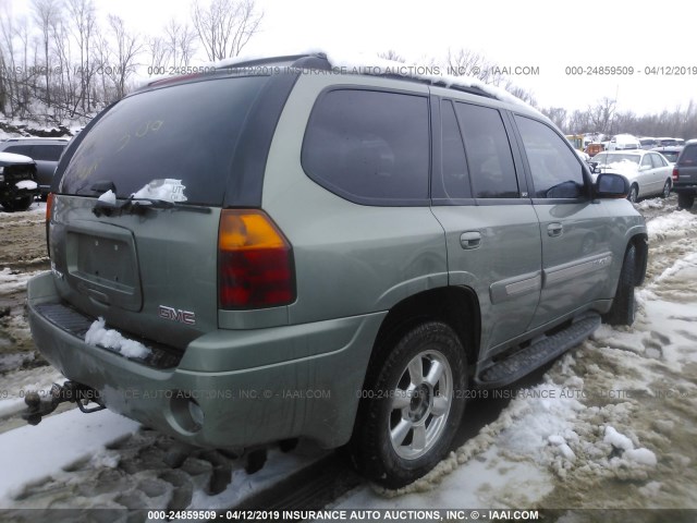
[[337, 89], [313, 109], [302, 162], [313, 180], [346, 199], [424, 204], [429, 151], [426, 97]]

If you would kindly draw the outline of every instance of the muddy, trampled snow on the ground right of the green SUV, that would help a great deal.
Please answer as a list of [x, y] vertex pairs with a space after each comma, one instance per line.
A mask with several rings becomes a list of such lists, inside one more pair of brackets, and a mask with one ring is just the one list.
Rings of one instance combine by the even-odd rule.
[[697, 509], [696, 226], [687, 211], [648, 222], [632, 328], [601, 326], [425, 478], [338, 508]]

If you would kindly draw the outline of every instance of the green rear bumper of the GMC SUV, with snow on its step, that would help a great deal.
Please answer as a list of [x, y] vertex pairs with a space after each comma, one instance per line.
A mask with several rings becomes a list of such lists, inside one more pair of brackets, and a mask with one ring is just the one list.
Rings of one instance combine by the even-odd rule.
[[[194, 340], [176, 367], [158, 369], [89, 345], [41, 315], [39, 305], [60, 301], [51, 273], [33, 278], [27, 296], [36, 345], [66, 378], [98, 390], [114, 412], [212, 448], [292, 437], [327, 448], [345, 443], [386, 314], [218, 330]], [[259, 356], [283, 350], [283, 361]]]

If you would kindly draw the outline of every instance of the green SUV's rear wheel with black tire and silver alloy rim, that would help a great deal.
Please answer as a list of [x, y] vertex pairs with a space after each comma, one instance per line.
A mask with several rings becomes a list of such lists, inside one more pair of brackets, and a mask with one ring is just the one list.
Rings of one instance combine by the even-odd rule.
[[369, 369], [351, 457], [364, 476], [399, 488], [449, 452], [465, 406], [467, 362], [455, 332], [439, 321], [408, 330], [381, 354]]

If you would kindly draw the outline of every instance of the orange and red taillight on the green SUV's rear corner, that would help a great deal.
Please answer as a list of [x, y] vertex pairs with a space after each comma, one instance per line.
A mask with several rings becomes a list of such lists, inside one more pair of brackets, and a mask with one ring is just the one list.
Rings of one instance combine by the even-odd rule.
[[262, 308], [295, 301], [291, 244], [261, 210], [223, 209], [218, 229], [220, 308]]

